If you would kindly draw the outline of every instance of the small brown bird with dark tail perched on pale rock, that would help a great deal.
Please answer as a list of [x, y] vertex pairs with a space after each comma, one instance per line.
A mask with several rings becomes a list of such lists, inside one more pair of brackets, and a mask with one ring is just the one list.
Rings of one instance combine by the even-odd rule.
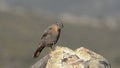
[[58, 19], [56, 21], [56, 23], [52, 24], [51, 26], [49, 26], [42, 34], [41, 36], [41, 42], [39, 43], [38, 48], [36, 49], [36, 51], [33, 54], [33, 58], [37, 58], [41, 51], [45, 48], [45, 47], [50, 47], [50, 49], [53, 49], [53, 46], [57, 43], [59, 37], [60, 37], [60, 33], [61, 33], [61, 29], [63, 28], [63, 23], [61, 21], [61, 19]]

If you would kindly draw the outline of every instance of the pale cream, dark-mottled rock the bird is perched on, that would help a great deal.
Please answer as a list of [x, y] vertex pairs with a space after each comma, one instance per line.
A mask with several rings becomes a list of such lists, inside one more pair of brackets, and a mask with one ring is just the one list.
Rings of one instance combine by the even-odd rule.
[[[41, 62], [37, 62], [32, 68], [41, 68], [39, 64]], [[42, 68], [111, 68], [111, 66], [104, 57], [87, 48], [80, 47], [73, 51], [67, 47], [57, 46], [51, 51], [46, 65]]]

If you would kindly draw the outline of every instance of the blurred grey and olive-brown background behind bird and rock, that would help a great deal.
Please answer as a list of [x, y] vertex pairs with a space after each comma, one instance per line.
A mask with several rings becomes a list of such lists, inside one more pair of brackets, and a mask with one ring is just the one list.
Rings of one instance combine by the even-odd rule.
[[0, 68], [29, 68], [44, 29], [63, 16], [57, 45], [84, 46], [120, 68], [120, 0], [0, 0]]

